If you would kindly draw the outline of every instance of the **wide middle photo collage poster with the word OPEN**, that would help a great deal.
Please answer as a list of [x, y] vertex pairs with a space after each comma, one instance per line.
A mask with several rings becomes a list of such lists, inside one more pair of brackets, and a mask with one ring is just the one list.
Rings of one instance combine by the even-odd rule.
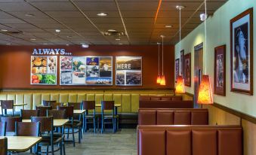
[[60, 56], [60, 85], [112, 85], [112, 56]]

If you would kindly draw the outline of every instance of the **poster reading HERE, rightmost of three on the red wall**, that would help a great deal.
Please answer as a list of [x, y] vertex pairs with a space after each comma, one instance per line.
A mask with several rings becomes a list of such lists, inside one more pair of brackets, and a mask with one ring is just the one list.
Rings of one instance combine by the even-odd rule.
[[116, 85], [142, 86], [141, 56], [116, 56]]

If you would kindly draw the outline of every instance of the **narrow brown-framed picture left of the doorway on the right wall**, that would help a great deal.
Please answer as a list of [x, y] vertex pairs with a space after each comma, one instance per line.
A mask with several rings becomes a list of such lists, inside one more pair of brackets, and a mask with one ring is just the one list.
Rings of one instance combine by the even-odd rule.
[[191, 53], [184, 56], [184, 84], [187, 87], [191, 86]]

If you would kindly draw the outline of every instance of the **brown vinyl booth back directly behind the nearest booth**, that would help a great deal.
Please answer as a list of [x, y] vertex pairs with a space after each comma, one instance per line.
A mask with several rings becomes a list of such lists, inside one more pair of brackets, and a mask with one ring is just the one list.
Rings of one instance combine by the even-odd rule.
[[208, 125], [208, 109], [139, 109], [139, 125]]

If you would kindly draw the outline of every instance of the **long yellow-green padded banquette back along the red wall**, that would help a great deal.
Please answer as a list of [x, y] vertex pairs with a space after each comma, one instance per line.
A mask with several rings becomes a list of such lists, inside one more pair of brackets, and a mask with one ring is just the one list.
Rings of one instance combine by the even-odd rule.
[[[100, 92], [100, 91], [99, 91]], [[103, 92], [103, 91], [101, 91]], [[42, 91], [23, 92], [23, 93], [0, 93], [0, 99], [13, 99], [15, 104], [26, 103], [24, 107], [16, 107], [15, 110], [20, 109], [35, 109], [36, 105], [42, 105], [43, 100], [56, 100], [57, 102], [81, 102], [82, 100], [95, 101], [100, 104], [102, 100], [115, 101], [115, 104], [121, 105], [118, 108], [119, 112], [137, 112], [139, 108], [140, 95], [147, 96], [147, 91], [131, 91], [122, 93], [122, 91], [106, 91], [107, 93], [94, 93], [94, 92], [74, 92], [70, 91], [62, 93], [61, 91], [52, 91], [51, 93]], [[171, 96], [171, 91], [153, 91], [153, 95]], [[100, 108], [97, 108], [100, 111]]]

